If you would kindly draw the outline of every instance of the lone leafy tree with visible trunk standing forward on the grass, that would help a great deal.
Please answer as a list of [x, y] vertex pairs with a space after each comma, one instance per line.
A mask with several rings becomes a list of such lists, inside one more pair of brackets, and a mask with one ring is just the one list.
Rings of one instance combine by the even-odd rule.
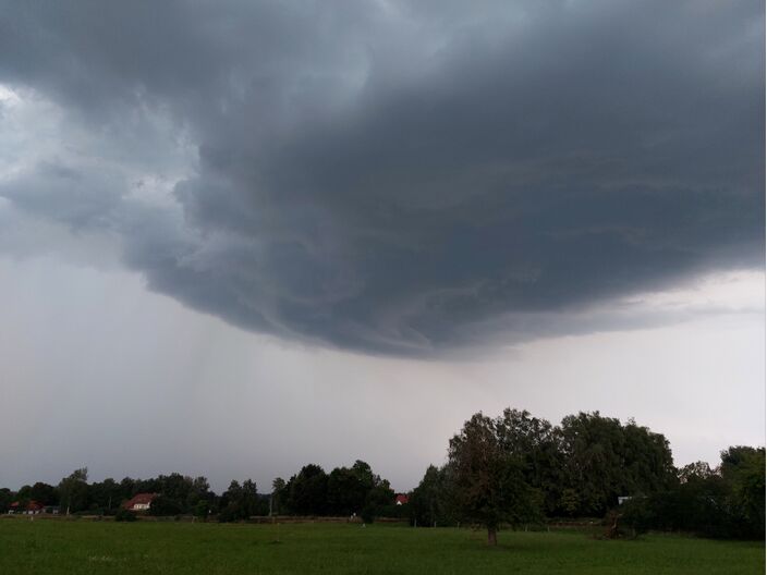
[[487, 528], [497, 545], [499, 527], [536, 515], [536, 498], [525, 481], [524, 462], [506, 442], [502, 418], [475, 414], [450, 440], [448, 474], [462, 514]]

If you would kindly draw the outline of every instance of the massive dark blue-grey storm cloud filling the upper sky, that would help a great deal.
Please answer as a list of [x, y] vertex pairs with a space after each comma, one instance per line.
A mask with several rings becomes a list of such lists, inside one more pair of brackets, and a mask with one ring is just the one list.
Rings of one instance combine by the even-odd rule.
[[159, 110], [198, 164], [175, 187], [183, 221], [114, 189], [63, 193], [77, 184], [50, 167], [0, 193], [113, 228], [153, 289], [248, 329], [427, 354], [762, 266], [759, 2], [2, 14], [0, 82], [92, 131]]

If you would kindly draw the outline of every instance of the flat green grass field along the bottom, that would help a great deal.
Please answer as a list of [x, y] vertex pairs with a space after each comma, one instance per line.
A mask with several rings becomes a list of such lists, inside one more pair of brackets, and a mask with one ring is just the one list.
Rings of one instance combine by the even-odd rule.
[[760, 542], [650, 535], [597, 540], [580, 531], [401, 525], [246, 525], [0, 521], [0, 573], [764, 573]]

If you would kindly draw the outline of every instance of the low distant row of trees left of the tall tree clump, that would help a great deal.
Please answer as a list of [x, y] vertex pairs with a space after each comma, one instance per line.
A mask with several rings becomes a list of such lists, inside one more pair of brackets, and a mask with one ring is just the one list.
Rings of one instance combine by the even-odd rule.
[[[26, 509], [29, 502], [56, 505], [60, 513], [117, 515], [121, 505], [138, 493], [157, 494], [150, 515], [211, 515], [221, 522], [242, 521], [269, 514], [331, 515], [360, 514], [368, 521], [374, 516], [398, 516], [394, 492], [387, 479], [373, 473], [370, 466], [357, 460], [351, 467], [336, 467], [329, 474], [319, 465], [308, 464], [284, 480], [276, 478], [271, 491], [259, 493], [253, 479], [233, 480], [217, 494], [205, 477], [187, 477], [179, 473], [150, 479], [125, 477], [88, 482], [87, 468], [75, 469], [58, 485], [42, 481], [23, 486], [17, 491], [0, 489], [0, 513], [7, 513], [15, 502]], [[124, 512], [120, 517], [125, 517]]]

